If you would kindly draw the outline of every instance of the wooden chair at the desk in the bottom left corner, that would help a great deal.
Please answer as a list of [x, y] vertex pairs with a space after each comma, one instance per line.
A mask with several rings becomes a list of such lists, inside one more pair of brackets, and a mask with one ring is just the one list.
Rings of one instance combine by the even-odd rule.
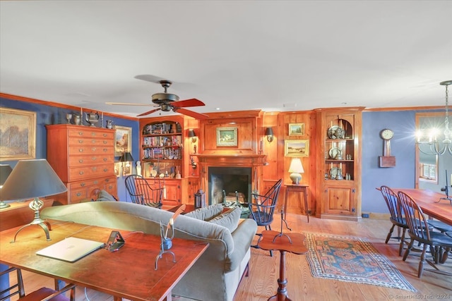
[[[4, 271], [1, 271], [0, 276], [8, 275], [16, 271], [17, 282], [11, 285], [9, 288], [0, 292], [0, 301], [9, 300], [10, 297], [18, 295], [20, 301], [75, 301], [76, 300], [76, 285], [68, 284], [60, 290], [52, 290], [52, 288], [40, 288], [32, 293], [25, 295], [25, 288], [23, 286], [22, 271], [14, 267], [10, 267]], [[13, 279], [13, 277], [9, 277]], [[57, 281], [55, 281], [57, 287]], [[71, 297], [66, 297], [64, 293], [71, 290]], [[6, 295], [8, 294], [8, 295]]]

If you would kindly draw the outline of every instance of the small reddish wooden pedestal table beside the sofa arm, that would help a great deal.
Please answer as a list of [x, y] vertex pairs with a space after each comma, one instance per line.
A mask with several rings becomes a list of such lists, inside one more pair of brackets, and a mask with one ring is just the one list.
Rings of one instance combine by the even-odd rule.
[[287, 278], [285, 269], [285, 253], [306, 254], [304, 235], [301, 233], [280, 233], [278, 231], [262, 231], [262, 237], [257, 243], [262, 250], [280, 251], [280, 278], [278, 278], [278, 293], [269, 297], [268, 301], [292, 301], [287, 296]]

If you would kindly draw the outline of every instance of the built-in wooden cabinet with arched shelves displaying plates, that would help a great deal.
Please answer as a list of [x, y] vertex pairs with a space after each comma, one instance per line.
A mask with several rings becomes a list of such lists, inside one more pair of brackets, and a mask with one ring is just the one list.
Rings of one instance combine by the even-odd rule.
[[362, 109], [319, 109], [316, 215], [361, 219]]

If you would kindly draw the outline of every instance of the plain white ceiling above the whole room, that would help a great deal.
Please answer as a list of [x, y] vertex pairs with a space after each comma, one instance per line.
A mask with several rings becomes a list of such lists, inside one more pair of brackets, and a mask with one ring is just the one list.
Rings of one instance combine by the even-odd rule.
[[451, 29], [452, 1], [0, 1], [0, 92], [136, 116], [105, 102], [151, 104], [153, 75], [199, 113], [442, 106]]

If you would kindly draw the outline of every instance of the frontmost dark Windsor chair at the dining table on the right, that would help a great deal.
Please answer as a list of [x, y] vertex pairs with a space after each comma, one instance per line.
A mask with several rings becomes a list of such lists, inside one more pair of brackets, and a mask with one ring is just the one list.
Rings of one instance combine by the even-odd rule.
[[[417, 277], [422, 277], [424, 271], [424, 264], [427, 262], [434, 269], [427, 269], [427, 271], [433, 271], [439, 274], [452, 276], [452, 273], [444, 270], [440, 270], [436, 264], [446, 262], [448, 252], [452, 250], [452, 238], [448, 235], [432, 231], [427, 223], [427, 218], [424, 216], [422, 209], [415, 202], [412, 197], [405, 192], [398, 192], [398, 199], [403, 207], [405, 213], [405, 220], [408, 223], [408, 235], [410, 235], [411, 241], [408, 245], [405, 254], [403, 254], [403, 261], [405, 261], [410, 254], [410, 250], [415, 241], [422, 244], [422, 253], [420, 256], [419, 267], [417, 269]], [[434, 257], [434, 262], [426, 259], [427, 248], [430, 249]]]

